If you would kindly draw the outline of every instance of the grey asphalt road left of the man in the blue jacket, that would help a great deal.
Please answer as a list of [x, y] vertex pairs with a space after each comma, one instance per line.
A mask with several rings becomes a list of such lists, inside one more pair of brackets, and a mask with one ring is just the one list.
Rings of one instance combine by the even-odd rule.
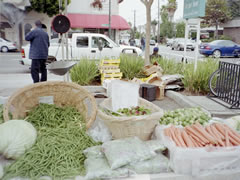
[[19, 63], [21, 53], [0, 53], [0, 74], [30, 73], [29, 67]]

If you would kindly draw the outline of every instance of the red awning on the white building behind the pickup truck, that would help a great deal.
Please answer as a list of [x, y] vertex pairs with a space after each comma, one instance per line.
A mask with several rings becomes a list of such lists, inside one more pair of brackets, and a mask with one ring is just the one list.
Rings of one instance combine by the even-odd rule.
[[[108, 29], [108, 15], [100, 14], [68, 14], [71, 28]], [[111, 16], [111, 28], [119, 30], [130, 29], [127, 21], [121, 16]]]

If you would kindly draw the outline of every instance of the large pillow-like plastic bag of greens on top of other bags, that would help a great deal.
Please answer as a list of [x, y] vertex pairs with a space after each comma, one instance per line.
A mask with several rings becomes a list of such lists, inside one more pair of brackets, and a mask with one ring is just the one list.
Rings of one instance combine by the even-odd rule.
[[111, 169], [117, 169], [131, 162], [144, 161], [156, 155], [137, 137], [105, 142], [102, 148]]

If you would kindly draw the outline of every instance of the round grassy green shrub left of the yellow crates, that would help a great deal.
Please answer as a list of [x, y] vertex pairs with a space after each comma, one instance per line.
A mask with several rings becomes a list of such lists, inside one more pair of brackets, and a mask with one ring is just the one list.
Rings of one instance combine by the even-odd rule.
[[89, 85], [97, 76], [99, 71], [96, 62], [87, 58], [80, 59], [70, 71], [72, 81], [79, 85]]

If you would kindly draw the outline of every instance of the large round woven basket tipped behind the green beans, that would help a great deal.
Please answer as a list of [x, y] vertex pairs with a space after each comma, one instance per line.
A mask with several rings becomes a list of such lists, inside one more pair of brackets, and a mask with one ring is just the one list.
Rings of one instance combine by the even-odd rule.
[[84, 116], [89, 128], [96, 119], [95, 98], [82, 86], [63, 81], [49, 81], [25, 86], [15, 92], [4, 106], [4, 120], [24, 118], [27, 112], [39, 104], [39, 97], [50, 96], [57, 106], [73, 106]]

